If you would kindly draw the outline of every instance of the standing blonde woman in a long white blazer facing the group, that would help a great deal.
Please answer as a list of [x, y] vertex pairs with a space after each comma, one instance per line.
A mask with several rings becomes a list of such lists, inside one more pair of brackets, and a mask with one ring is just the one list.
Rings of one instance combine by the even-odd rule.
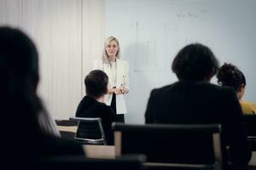
[[129, 92], [128, 63], [120, 59], [119, 41], [116, 37], [108, 37], [104, 43], [102, 59], [94, 62], [93, 68], [104, 71], [109, 78], [108, 94], [104, 102], [110, 105], [117, 114], [118, 122], [125, 122], [125, 94]]

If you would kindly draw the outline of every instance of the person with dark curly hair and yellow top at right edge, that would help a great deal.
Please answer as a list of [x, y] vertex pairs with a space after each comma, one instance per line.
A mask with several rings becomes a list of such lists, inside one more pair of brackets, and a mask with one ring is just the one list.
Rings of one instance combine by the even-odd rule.
[[241, 100], [245, 93], [247, 82], [243, 73], [235, 65], [224, 63], [224, 65], [218, 69], [217, 78], [218, 84], [234, 88], [241, 104], [241, 111], [244, 114], [256, 114], [256, 105]]

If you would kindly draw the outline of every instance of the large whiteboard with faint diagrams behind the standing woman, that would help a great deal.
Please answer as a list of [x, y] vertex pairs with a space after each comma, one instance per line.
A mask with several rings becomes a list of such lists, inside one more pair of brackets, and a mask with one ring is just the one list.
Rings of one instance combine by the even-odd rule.
[[130, 65], [125, 122], [144, 122], [150, 91], [177, 81], [172, 59], [190, 42], [212, 48], [220, 65], [237, 65], [247, 77], [244, 99], [256, 103], [255, 0], [106, 0], [105, 12], [106, 37], [119, 39]]

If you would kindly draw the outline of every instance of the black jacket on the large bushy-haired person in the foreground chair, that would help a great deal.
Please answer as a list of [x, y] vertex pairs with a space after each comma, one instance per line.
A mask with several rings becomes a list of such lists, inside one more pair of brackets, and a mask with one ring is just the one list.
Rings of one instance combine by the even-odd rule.
[[[230, 158], [246, 165], [251, 158], [241, 106], [231, 88], [207, 82], [175, 82], [152, 90], [145, 114], [146, 123], [219, 123], [224, 146], [230, 146]], [[227, 159], [227, 151], [224, 159]]]

